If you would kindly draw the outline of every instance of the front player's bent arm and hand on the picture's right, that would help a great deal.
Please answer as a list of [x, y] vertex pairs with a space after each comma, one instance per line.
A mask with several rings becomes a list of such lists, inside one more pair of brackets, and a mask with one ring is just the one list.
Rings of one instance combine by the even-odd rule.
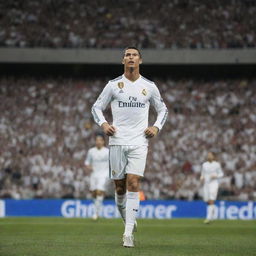
[[152, 138], [158, 134], [158, 132], [163, 128], [168, 116], [168, 109], [155, 84], [152, 88], [150, 103], [153, 105], [157, 112], [157, 119], [153, 126], [150, 126], [145, 130], [145, 135], [147, 138]]

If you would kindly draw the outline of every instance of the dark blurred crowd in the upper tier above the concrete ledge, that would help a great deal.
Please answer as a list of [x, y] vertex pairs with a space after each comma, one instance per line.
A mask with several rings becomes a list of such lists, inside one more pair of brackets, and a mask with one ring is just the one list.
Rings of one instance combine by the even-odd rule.
[[11, 0], [0, 46], [209, 49], [256, 47], [254, 0]]

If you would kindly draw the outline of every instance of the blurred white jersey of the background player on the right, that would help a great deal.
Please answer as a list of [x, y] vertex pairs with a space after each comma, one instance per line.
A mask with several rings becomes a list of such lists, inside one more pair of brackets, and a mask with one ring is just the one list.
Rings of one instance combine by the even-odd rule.
[[[212, 175], [215, 175], [217, 178], [211, 179]], [[204, 178], [205, 183], [218, 183], [218, 179], [223, 177], [220, 163], [217, 161], [203, 163], [201, 177]]]

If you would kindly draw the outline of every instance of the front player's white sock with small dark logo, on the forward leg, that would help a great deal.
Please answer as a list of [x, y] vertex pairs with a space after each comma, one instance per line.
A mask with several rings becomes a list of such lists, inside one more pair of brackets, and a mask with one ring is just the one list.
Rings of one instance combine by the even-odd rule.
[[127, 191], [126, 199], [126, 221], [125, 221], [125, 236], [132, 235], [137, 212], [139, 211], [140, 199], [139, 192]]

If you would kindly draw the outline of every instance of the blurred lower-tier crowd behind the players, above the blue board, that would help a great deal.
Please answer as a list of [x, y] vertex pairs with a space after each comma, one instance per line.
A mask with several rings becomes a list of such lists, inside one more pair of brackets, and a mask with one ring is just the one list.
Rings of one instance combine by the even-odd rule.
[[[0, 197], [90, 197], [84, 159], [99, 130], [90, 108], [107, 80], [0, 79]], [[170, 114], [149, 146], [146, 197], [200, 198], [201, 164], [214, 150], [220, 198], [255, 200], [256, 81], [154, 81]]]

